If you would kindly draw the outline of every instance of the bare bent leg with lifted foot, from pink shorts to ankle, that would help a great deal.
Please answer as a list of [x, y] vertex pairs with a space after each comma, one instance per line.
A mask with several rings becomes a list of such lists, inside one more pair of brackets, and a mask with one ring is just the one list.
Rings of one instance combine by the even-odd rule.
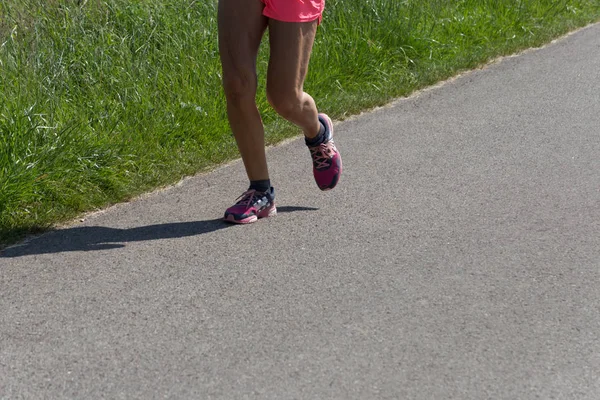
[[317, 21], [269, 20], [267, 98], [279, 115], [299, 126], [308, 138], [315, 137], [320, 129], [315, 101], [304, 92], [316, 31]]

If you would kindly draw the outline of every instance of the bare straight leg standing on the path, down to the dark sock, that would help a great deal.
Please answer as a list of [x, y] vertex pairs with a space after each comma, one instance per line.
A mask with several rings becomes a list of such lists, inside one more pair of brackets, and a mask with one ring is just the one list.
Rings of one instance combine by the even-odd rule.
[[256, 108], [256, 57], [268, 19], [260, 0], [219, 0], [219, 53], [229, 124], [250, 180], [269, 179]]

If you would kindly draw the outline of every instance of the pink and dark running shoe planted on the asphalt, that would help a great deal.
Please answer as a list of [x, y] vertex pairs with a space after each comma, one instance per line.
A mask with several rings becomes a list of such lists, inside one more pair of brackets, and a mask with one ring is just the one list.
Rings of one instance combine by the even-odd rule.
[[275, 189], [271, 187], [268, 192], [248, 189], [233, 206], [225, 211], [223, 219], [235, 224], [250, 224], [259, 218], [272, 217], [276, 214]]

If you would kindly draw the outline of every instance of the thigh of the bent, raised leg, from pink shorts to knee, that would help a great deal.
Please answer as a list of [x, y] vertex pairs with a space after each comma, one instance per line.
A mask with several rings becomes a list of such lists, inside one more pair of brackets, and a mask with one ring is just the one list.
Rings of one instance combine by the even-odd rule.
[[318, 21], [269, 20], [271, 54], [267, 75], [269, 91], [302, 91], [308, 72]]

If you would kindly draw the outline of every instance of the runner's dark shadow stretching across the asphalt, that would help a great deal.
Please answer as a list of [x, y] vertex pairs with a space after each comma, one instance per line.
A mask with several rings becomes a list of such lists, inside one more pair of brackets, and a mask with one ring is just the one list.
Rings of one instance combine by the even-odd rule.
[[[277, 207], [278, 213], [316, 211], [313, 207]], [[221, 219], [177, 222], [141, 226], [130, 229], [103, 226], [81, 226], [52, 231], [31, 241], [0, 252], [0, 258], [23, 257], [34, 254], [62, 253], [68, 251], [110, 250], [125, 247], [128, 242], [174, 239], [197, 236], [235, 226]]]

